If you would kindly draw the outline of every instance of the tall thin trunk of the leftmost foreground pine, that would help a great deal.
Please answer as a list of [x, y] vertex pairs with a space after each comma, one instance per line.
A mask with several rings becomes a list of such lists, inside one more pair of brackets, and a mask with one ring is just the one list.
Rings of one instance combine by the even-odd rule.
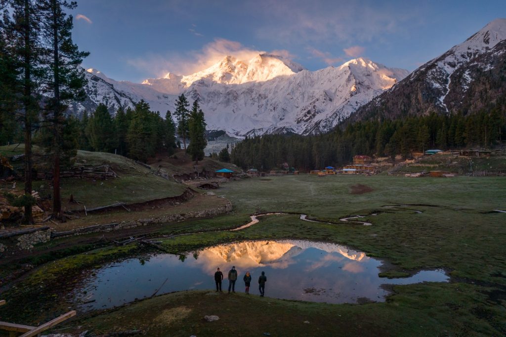
[[[28, 0], [24, 1], [24, 109], [25, 109], [25, 194], [31, 195], [32, 191], [32, 146], [31, 146], [31, 43], [30, 43], [30, 11]], [[33, 224], [32, 206], [25, 205], [23, 224]]]

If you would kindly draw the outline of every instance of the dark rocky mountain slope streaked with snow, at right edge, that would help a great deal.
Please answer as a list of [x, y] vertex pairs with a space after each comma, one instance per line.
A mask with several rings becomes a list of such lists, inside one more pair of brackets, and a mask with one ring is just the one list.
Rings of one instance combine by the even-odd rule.
[[350, 120], [479, 111], [504, 97], [505, 63], [506, 19], [496, 19], [413, 71]]

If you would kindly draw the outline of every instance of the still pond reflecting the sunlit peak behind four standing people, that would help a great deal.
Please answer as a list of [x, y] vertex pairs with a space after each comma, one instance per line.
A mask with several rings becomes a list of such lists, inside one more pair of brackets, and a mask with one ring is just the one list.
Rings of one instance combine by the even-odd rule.
[[[407, 278], [378, 276], [382, 262], [345, 246], [299, 240], [245, 241], [208, 247], [185, 256], [159, 254], [128, 259], [96, 270], [75, 291], [83, 309], [110, 308], [157, 294], [192, 289], [215, 289], [219, 267], [228, 290], [227, 274], [238, 271], [237, 292], [244, 291], [242, 277], [252, 276], [251, 294], [259, 294], [258, 278], [267, 276], [266, 297], [327, 303], [385, 301], [382, 284], [447, 282], [443, 270], [425, 270]], [[225, 295], [224, 295], [225, 296]], [[228, 296], [228, 295], [226, 295]]]

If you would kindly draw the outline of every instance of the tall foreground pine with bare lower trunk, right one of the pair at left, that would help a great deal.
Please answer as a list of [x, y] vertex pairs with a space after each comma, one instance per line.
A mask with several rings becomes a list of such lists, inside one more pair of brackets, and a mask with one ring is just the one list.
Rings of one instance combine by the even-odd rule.
[[60, 156], [64, 139], [65, 103], [85, 98], [85, 74], [79, 65], [89, 53], [80, 52], [72, 41], [72, 16], [64, 10], [74, 10], [75, 2], [66, 0], [38, 0], [41, 16], [41, 36], [48, 49], [47, 66], [50, 69], [48, 89], [51, 99], [46, 105], [46, 120], [53, 132], [53, 216], [64, 220], [60, 195]]

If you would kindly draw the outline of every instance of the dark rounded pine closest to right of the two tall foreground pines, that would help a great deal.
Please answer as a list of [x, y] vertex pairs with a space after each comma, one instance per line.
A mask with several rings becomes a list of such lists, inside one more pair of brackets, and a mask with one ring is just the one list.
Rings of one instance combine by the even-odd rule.
[[98, 105], [90, 117], [86, 131], [94, 151], [114, 151], [117, 143], [116, 132], [107, 106], [102, 103]]

